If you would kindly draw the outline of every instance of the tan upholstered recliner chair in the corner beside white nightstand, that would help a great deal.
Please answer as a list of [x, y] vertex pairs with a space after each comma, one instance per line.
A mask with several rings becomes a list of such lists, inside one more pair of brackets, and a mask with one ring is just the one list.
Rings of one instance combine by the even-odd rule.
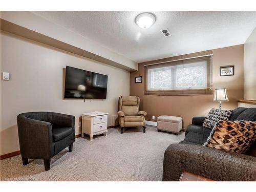
[[121, 96], [118, 101], [118, 120], [123, 134], [123, 127], [127, 126], [143, 126], [145, 132], [145, 116], [146, 112], [139, 111], [140, 98], [136, 96]]

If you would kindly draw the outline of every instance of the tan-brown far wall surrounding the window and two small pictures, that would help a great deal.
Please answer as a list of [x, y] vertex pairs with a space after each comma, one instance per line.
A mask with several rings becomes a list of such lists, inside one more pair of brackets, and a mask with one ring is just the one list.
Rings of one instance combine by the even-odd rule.
[[[229, 102], [222, 102], [222, 109], [237, 108], [237, 100], [244, 97], [244, 46], [232, 46], [221, 49], [209, 50], [194, 54], [176, 56], [164, 60], [175, 60], [205, 54], [213, 54], [213, 87], [226, 88]], [[159, 61], [159, 60], [157, 60]], [[155, 96], [144, 95], [143, 83], [135, 83], [136, 76], [144, 76], [144, 65], [157, 61], [139, 63], [139, 71], [131, 72], [130, 95], [137, 95], [141, 99], [141, 109], [147, 112], [146, 119], [152, 116], [172, 115], [183, 118], [183, 127], [187, 127], [194, 116], [207, 115], [211, 108], [219, 107], [218, 102], [212, 101], [213, 95], [189, 95], [189, 96]], [[220, 66], [234, 65], [234, 75], [220, 77]], [[144, 78], [143, 78], [144, 80]], [[155, 120], [156, 121], [156, 120]]]

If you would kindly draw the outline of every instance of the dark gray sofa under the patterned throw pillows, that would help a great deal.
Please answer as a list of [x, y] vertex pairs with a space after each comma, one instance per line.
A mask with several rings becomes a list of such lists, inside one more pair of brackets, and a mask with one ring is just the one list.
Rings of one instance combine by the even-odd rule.
[[[186, 170], [216, 181], [256, 181], [256, 143], [246, 154], [202, 146], [211, 130], [205, 117], [194, 117], [184, 141], [168, 146], [164, 153], [163, 181], [178, 181]], [[256, 108], [237, 108], [229, 120], [256, 121]]]

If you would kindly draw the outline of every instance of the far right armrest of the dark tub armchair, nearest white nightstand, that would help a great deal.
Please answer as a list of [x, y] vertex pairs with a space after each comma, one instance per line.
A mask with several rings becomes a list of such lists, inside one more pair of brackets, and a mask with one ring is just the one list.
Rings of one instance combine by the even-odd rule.
[[52, 123], [65, 127], [72, 127], [75, 131], [75, 116], [61, 113], [52, 114]]

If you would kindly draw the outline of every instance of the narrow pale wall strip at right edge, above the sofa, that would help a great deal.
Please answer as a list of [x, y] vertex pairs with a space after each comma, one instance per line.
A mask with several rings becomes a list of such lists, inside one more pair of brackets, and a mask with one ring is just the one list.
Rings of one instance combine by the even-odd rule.
[[256, 99], [256, 28], [244, 44], [244, 99]]

